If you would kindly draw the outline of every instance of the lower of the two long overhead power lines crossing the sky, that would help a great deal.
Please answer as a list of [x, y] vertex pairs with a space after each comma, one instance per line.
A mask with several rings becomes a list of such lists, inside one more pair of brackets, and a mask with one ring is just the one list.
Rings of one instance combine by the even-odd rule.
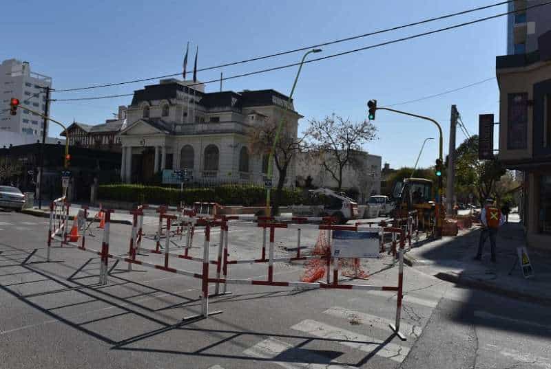
[[[532, 9], [532, 8], [538, 8], [538, 7], [541, 7], [541, 6], [544, 6], [544, 5], [549, 5], [551, 4], [551, 1], [546, 1], [545, 3], [539, 3], [539, 4], [535, 4], [535, 5], [530, 5], [530, 6], [527, 6], [526, 8], [523, 8], [523, 9], [519, 9], [519, 10], [512, 10], [510, 12], [504, 12], [504, 13], [500, 13], [500, 14], [495, 14], [495, 15], [492, 15], [492, 16], [485, 16], [484, 18], [479, 18], [479, 19], [475, 19], [474, 21], [468, 21], [468, 22], [464, 22], [464, 23], [458, 23], [456, 25], [450, 25], [448, 27], [443, 27], [443, 28], [439, 28], [437, 30], [432, 30], [432, 31], [428, 31], [428, 32], [422, 32], [422, 33], [419, 33], [419, 34], [413, 34], [411, 36], [406, 36], [406, 37], [402, 37], [402, 38], [395, 38], [394, 40], [391, 40], [391, 41], [384, 41], [382, 43], [376, 43], [374, 45], [368, 45], [368, 46], [364, 46], [364, 47], [359, 47], [357, 49], [351, 49], [351, 50], [348, 50], [346, 52], [339, 52], [337, 54], [331, 54], [331, 55], [328, 55], [328, 56], [322, 56], [320, 58], [313, 58], [313, 59], [310, 59], [310, 60], [306, 60], [304, 61], [304, 64], [307, 64], [307, 63], [315, 63], [315, 62], [318, 62], [318, 61], [321, 61], [321, 60], [327, 60], [327, 59], [331, 59], [331, 58], [337, 58], [338, 56], [344, 56], [344, 55], [348, 55], [348, 54], [354, 54], [356, 52], [362, 52], [364, 50], [368, 50], [368, 49], [375, 49], [376, 47], [382, 47], [382, 46], [386, 46], [386, 45], [391, 45], [393, 43], [400, 43], [400, 42], [404, 42], [404, 41], [409, 41], [409, 40], [413, 40], [415, 38], [419, 38], [419, 37], [424, 37], [424, 36], [429, 36], [431, 34], [437, 34], [439, 32], [444, 32], [444, 31], [448, 31], [448, 30], [454, 30], [456, 28], [459, 28], [459, 27], [464, 27], [466, 25], [472, 25], [472, 24], [476, 24], [476, 23], [481, 23], [481, 22], [484, 22], [484, 21], [489, 21], [490, 19], [496, 19], [496, 18], [499, 18], [501, 16], [506, 16], [508, 14], [514, 14], [514, 13], [517, 13], [517, 12], [524, 12], [528, 9]], [[279, 67], [271, 67], [271, 68], [267, 68], [267, 69], [260, 69], [260, 70], [257, 70], [257, 71], [251, 71], [251, 72], [248, 72], [248, 73], [244, 73], [244, 74], [236, 74], [234, 76], [229, 76], [229, 77], [225, 77], [225, 78], [216, 78], [214, 80], [207, 80], [205, 82], [197, 82], [197, 83], [194, 83], [194, 84], [191, 84], [191, 85], [187, 85], [187, 87], [194, 87], [196, 85], [207, 85], [209, 83], [214, 83], [214, 82], [217, 82], [219, 83], [220, 80], [233, 80], [235, 78], [242, 78], [242, 77], [247, 77], [247, 76], [253, 76], [253, 75], [256, 75], [256, 74], [263, 74], [263, 73], [267, 73], [269, 71], [277, 71], [277, 70], [280, 70], [280, 69], [286, 69], [286, 68], [290, 68], [290, 67], [296, 67], [298, 65], [300, 65], [301, 63], [291, 63], [291, 64], [287, 64], [287, 65], [281, 65]], [[477, 82], [478, 83], [478, 82]], [[481, 83], [481, 82], [480, 82]], [[74, 98], [74, 99], [59, 99], [59, 100], [53, 100], [53, 101], [76, 101], [76, 100], [96, 100], [96, 99], [103, 99], [103, 98], [114, 98], [114, 97], [121, 97], [121, 96], [131, 96], [132, 93], [128, 93], [128, 94], [123, 94], [123, 95], [112, 95], [112, 96], [100, 96], [100, 97], [96, 97], [96, 98]]]

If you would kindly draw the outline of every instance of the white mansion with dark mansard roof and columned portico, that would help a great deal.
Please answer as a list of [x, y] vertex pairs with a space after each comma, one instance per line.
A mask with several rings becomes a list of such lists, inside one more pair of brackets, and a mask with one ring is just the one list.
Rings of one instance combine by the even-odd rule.
[[[267, 159], [251, 154], [247, 130], [279, 120], [286, 104], [287, 96], [271, 89], [205, 93], [202, 84], [176, 79], [145, 86], [134, 91], [118, 135], [121, 179], [142, 182], [164, 169], [185, 168], [193, 181], [260, 182]], [[296, 135], [302, 115], [292, 102], [286, 114]], [[287, 178], [294, 181], [294, 165]]]

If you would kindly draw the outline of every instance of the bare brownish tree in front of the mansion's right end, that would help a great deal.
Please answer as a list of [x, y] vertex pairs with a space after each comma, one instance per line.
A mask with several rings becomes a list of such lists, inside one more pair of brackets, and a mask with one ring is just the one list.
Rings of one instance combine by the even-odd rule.
[[[263, 170], [267, 168], [267, 161], [270, 150], [273, 146], [275, 133], [278, 130], [278, 123], [267, 119], [263, 124], [258, 124], [249, 128], [249, 145], [251, 153], [262, 157]], [[278, 168], [278, 186], [275, 188], [275, 198], [273, 199], [272, 215], [278, 214], [281, 204], [283, 186], [287, 178], [287, 170], [293, 161], [295, 155], [300, 152], [304, 143], [304, 137], [297, 137], [296, 128], [288, 120], [285, 120], [280, 133], [278, 143], [275, 145], [273, 161]]]

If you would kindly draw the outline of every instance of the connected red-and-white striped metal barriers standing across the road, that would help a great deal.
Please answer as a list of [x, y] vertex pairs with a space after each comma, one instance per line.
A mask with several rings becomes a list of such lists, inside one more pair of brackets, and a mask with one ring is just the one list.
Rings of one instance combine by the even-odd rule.
[[[69, 205], [65, 204], [65, 201], [63, 199], [63, 203], [61, 203], [61, 206], [63, 206], [63, 212], [60, 212], [60, 214], [65, 214], [65, 223], [67, 221], [67, 216], [69, 214]], [[149, 267], [152, 269], [157, 269], [161, 271], [167, 271], [169, 273], [176, 273], [183, 276], [189, 276], [191, 278], [197, 278], [200, 279], [200, 289], [201, 289], [201, 317], [208, 317], [209, 315], [213, 315], [216, 313], [221, 313], [221, 311], [214, 311], [209, 312], [209, 284], [214, 283], [215, 284], [215, 294], [218, 294], [220, 291], [220, 284], [222, 284], [222, 293], [227, 293], [227, 284], [251, 284], [251, 285], [257, 285], [257, 286], [271, 286], [271, 287], [293, 287], [293, 288], [299, 288], [299, 289], [340, 289], [340, 290], [363, 290], [363, 291], [391, 291], [391, 292], [397, 292], [397, 306], [396, 306], [396, 320], [395, 324], [391, 325], [391, 328], [393, 331], [399, 335], [400, 338], [405, 339], [405, 336], [402, 335], [402, 333], [399, 332], [399, 320], [401, 317], [401, 309], [402, 309], [402, 298], [403, 298], [403, 278], [404, 278], [404, 245], [405, 245], [405, 239], [406, 239], [406, 233], [404, 230], [397, 228], [397, 227], [362, 227], [361, 225], [315, 225], [315, 224], [295, 224], [295, 223], [273, 223], [273, 221], [261, 221], [260, 223], [249, 223], [247, 227], [256, 227], [256, 228], [262, 228], [262, 233], [264, 235], [264, 242], [263, 242], [263, 249], [262, 252], [262, 259], [260, 260], [228, 260], [229, 258], [229, 250], [228, 250], [228, 240], [229, 240], [229, 222], [227, 219], [221, 219], [221, 220], [215, 220], [215, 219], [186, 219], [186, 221], [189, 221], [189, 223], [201, 223], [205, 225], [205, 241], [203, 243], [203, 249], [202, 249], [202, 258], [196, 258], [191, 257], [189, 255], [180, 255], [175, 254], [170, 251], [170, 242], [171, 242], [171, 224], [173, 221], [178, 221], [178, 216], [175, 216], [173, 214], [166, 214], [163, 213], [161, 216], [161, 219], [166, 220], [166, 240], [165, 240], [165, 249], [164, 252], [161, 252], [158, 250], [158, 248], [155, 249], [155, 252], [158, 252], [158, 254], [164, 254], [164, 262], [163, 264], [155, 264], [153, 262], [147, 262], [144, 260], [137, 260], [137, 252], [140, 247], [141, 243], [141, 231], [140, 228], [142, 227], [143, 223], [143, 210], [142, 209], [136, 209], [132, 210], [130, 214], [132, 214], [132, 230], [130, 232], [129, 237], [129, 251], [128, 254], [125, 256], [122, 255], [114, 255], [110, 253], [110, 229], [111, 229], [111, 214], [113, 213], [112, 210], [104, 210], [102, 209], [101, 212], [105, 214], [105, 228], [103, 230], [103, 240], [101, 243], [101, 250], [95, 250], [90, 249], [85, 245], [85, 238], [83, 237], [81, 239], [80, 243], [72, 243], [67, 241], [66, 234], [66, 226], [63, 227], [63, 237], [61, 237], [58, 233], [60, 232], [62, 227], [59, 227], [58, 229], [54, 230], [54, 220], [56, 219], [56, 204], [52, 203], [50, 205], [50, 230], [48, 232], [48, 256], [50, 254], [50, 245], [52, 243], [52, 240], [56, 239], [61, 241], [64, 245], [75, 247], [76, 249], [80, 249], [82, 251], [87, 251], [92, 254], [96, 254], [100, 256], [101, 258], [101, 264], [100, 264], [100, 283], [101, 284], [107, 284], [107, 262], [110, 258], [114, 260], [120, 260], [122, 262], [127, 262], [129, 265], [141, 265], [142, 267]], [[85, 210], [86, 212], [86, 210]], [[60, 215], [61, 216], [61, 215]], [[180, 219], [183, 220], [183, 217]], [[243, 224], [240, 224], [241, 226]], [[218, 254], [216, 256], [216, 260], [210, 260], [210, 243], [211, 243], [211, 229], [212, 227], [220, 226], [220, 243], [218, 245]], [[273, 273], [273, 263], [278, 261], [287, 261], [287, 260], [304, 260], [304, 258], [309, 258], [310, 256], [298, 256], [295, 258], [274, 258], [274, 246], [275, 246], [275, 232], [278, 229], [287, 229], [287, 230], [297, 230], [298, 232], [298, 250], [300, 250], [300, 230], [322, 230], [325, 232], [328, 232], [329, 234], [329, 240], [331, 240], [331, 234], [335, 230], [346, 230], [346, 231], [352, 231], [352, 232], [362, 232], [362, 231], [368, 231], [368, 232], [377, 232], [379, 234], [383, 234], [384, 232], [390, 232], [393, 235], [399, 234], [399, 250], [397, 251], [397, 258], [399, 261], [399, 273], [398, 273], [398, 282], [397, 286], [374, 286], [374, 285], [366, 285], [366, 284], [341, 284], [338, 280], [338, 258], [333, 256], [315, 256], [316, 258], [326, 258], [327, 259], [327, 267], [328, 267], [328, 273], [327, 273], [327, 282], [297, 282], [297, 281], [279, 281], [274, 279], [274, 273]], [[54, 232], [56, 231], [56, 232]], [[268, 234], [268, 241], [266, 242], [265, 235]], [[266, 258], [266, 243], [268, 243], [268, 252], [267, 252], [267, 258]], [[396, 247], [398, 243], [397, 237], [393, 236], [393, 244], [394, 247]], [[332, 241], [330, 241], [331, 245], [331, 255], [334, 255], [333, 253], [333, 247], [334, 244]], [[187, 248], [186, 248], [187, 249]], [[154, 252], [152, 250], [149, 250], [150, 252]], [[300, 254], [299, 254], [300, 255]], [[201, 272], [197, 273], [194, 271], [187, 271], [183, 269], [176, 269], [174, 267], [171, 267], [169, 265], [169, 258], [170, 256], [176, 256], [177, 258], [184, 258], [191, 261], [197, 261], [201, 262]], [[228, 271], [228, 265], [230, 264], [240, 264], [242, 262], [267, 262], [267, 280], [245, 280], [245, 279], [238, 279], [238, 278], [229, 278], [229, 271]], [[333, 281], [330, 280], [330, 273], [329, 269], [331, 267], [331, 262], [333, 262]], [[209, 276], [209, 265], [214, 264], [216, 265], [216, 278], [210, 278]], [[132, 269], [129, 269], [132, 270]], [[194, 317], [189, 317], [194, 318]], [[187, 319], [187, 318], [186, 318]]]

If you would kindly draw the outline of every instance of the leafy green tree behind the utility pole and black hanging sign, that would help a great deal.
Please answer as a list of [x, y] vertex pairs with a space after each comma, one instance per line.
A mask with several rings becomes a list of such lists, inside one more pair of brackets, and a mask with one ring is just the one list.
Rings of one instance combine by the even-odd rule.
[[458, 199], [475, 194], [480, 203], [489, 197], [495, 197], [496, 183], [506, 174], [497, 158], [480, 160], [478, 158], [478, 135], [466, 139], [456, 150], [455, 192]]

